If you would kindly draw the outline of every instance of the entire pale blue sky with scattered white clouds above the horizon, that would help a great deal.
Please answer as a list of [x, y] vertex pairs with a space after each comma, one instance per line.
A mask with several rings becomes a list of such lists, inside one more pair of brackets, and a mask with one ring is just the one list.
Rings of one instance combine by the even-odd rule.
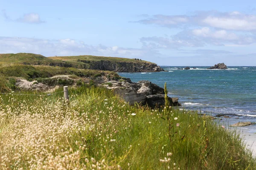
[[0, 0], [0, 54], [256, 66], [254, 0]]

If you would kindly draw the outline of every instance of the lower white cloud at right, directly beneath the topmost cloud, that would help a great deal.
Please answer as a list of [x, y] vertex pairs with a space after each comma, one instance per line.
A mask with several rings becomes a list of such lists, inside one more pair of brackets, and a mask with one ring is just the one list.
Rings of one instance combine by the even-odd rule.
[[247, 34], [235, 34], [226, 30], [208, 27], [181, 31], [170, 37], [142, 37], [145, 48], [183, 48], [210, 45], [248, 45], [256, 42], [256, 37]]

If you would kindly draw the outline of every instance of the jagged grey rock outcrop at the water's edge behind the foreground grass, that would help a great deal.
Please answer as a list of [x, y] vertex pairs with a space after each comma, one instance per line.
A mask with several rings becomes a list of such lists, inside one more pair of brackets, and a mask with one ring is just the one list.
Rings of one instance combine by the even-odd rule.
[[[129, 83], [126, 81], [109, 81], [102, 86], [112, 89], [115, 94], [122, 96], [125, 102], [134, 105], [136, 102], [142, 105], [148, 105], [151, 108], [159, 108], [165, 105], [164, 89], [149, 81], [140, 81]], [[171, 106], [181, 106], [178, 98], [170, 98]]]

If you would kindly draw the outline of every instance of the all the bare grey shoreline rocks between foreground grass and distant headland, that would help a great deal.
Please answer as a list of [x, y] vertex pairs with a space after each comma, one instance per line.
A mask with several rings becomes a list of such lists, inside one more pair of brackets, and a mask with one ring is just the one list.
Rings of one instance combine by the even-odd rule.
[[[53, 81], [65, 81], [70, 82], [70, 86], [76, 86], [78, 80], [72, 79], [72, 75], [62, 75], [48, 78], [48, 81], [34, 80], [32, 82], [27, 81], [26, 79], [16, 79], [16, 86], [20, 90], [24, 91], [42, 91], [51, 93], [59, 88], [61, 85], [47, 85], [44, 82], [53, 82]], [[86, 80], [84, 80], [86, 81]], [[94, 80], [87, 79], [87, 83], [90, 81], [94, 82], [94, 85], [101, 86], [113, 90], [115, 94], [121, 96], [125, 102], [128, 102], [130, 105], [138, 103], [140, 105], [148, 105], [150, 108], [160, 108], [165, 105], [164, 98], [164, 89], [158, 85], [149, 82], [147, 80], [142, 80], [139, 82], [131, 82], [129, 78], [122, 78], [119, 80], [110, 80], [107, 77], [101, 76], [97, 77]], [[178, 102], [177, 97], [169, 97], [170, 106], [181, 106]]]

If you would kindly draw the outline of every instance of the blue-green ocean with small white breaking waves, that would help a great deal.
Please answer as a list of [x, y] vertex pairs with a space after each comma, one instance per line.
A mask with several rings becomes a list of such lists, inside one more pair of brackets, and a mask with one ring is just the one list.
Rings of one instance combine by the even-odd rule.
[[[256, 67], [234, 66], [227, 70], [207, 70], [208, 67], [180, 70], [184, 66], [162, 67], [168, 72], [119, 73], [132, 82], [149, 80], [160, 87], [167, 83], [170, 97], [178, 97], [187, 110], [198, 110], [223, 118], [229, 124], [256, 122]], [[191, 67], [192, 68], [192, 67]], [[248, 126], [252, 130], [256, 126]], [[256, 130], [255, 130], [256, 132]]]

